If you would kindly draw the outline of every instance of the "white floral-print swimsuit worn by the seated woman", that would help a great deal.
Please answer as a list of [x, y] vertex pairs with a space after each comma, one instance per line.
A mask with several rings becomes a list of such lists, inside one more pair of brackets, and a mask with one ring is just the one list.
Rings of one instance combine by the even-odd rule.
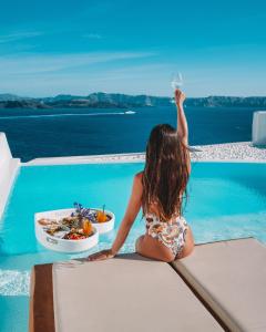
[[162, 221], [155, 214], [146, 214], [147, 234], [167, 247], [174, 256], [178, 256], [185, 245], [187, 224], [185, 218], [176, 217], [171, 221]]

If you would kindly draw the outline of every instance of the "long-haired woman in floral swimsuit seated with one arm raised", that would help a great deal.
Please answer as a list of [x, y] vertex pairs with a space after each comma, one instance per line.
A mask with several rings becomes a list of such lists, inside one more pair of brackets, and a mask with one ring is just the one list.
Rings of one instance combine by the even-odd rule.
[[141, 208], [146, 221], [146, 232], [136, 240], [136, 252], [166, 262], [192, 252], [192, 230], [182, 216], [182, 199], [191, 173], [184, 100], [184, 93], [176, 90], [177, 129], [161, 124], [151, 132], [145, 167], [134, 176], [127, 209], [112, 248], [89, 256], [89, 260], [114, 257], [123, 246]]

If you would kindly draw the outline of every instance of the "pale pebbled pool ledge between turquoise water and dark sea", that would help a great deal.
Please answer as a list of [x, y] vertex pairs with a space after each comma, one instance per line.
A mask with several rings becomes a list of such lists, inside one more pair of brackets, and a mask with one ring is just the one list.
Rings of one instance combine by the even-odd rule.
[[[266, 148], [255, 147], [252, 142], [196, 145], [191, 147], [192, 160], [198, 162], [253, 162], [266, 163]], [[23, 166], [101, 164], [101, 163], [140, 163], [145, 160], [144, 153], [110, 154], [72, 157], [37, 158]]]

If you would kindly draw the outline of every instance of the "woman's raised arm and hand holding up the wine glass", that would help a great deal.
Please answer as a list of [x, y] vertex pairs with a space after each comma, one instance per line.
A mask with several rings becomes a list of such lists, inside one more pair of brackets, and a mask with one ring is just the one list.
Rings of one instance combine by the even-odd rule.
[[185, 101], [185, 94], [181, 90], [175, 90], [175, 103], [177, 107], [177, 135], [181, 141], [187, 146], [188, 145], [188, 127], [186, 116], [183, 107]]

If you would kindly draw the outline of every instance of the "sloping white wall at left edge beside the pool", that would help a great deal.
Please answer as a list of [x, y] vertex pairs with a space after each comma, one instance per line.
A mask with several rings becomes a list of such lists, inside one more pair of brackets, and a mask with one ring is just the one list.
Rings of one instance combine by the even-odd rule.
[[0, 219], [12, 188], [20, 159], [13, 158], [4, 133], [0, 133]]

